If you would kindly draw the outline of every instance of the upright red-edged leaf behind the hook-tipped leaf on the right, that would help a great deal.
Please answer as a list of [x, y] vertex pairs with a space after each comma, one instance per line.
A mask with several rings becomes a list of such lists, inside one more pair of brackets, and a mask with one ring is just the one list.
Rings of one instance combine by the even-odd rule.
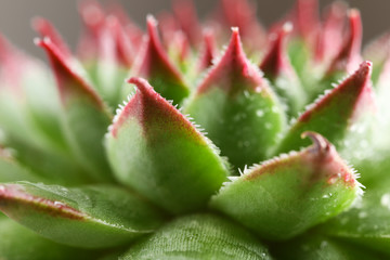
[[310, 130], [326, 136], [337, 148], [346, 150], [342, 155], [353, 159], [354, 153], [362, 152], [362, 147], [353, 148], [353, 145], [370, 138], [366, 121], [375, 114], [370, 72], [372, 63], [362, 63], [353, 75], [308, 106], [288, 130], [275, 154], [306, 146], [308, 142], [301, 140], [300, 134]]

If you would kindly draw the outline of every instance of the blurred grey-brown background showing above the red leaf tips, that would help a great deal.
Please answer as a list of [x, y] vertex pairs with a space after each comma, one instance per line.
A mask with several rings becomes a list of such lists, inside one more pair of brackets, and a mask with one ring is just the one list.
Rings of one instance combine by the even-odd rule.
[[[145, 15], [158, 14], [161, 10], [169, 9], [171, 0], [116, 0], [120, 2], [130, 16], [144, 27]], [[239, 1], [239, 0], [237, 0]], [[107, 1], [101, 1], [108, 3]], [[198, 15], [217, 5], [217, 0], [194, 0]], [[295, 0], [265, 1], [257, 0], [259, 20], [269, 25], [282, 17]], [[320, 0], [322, 6], [330, 0]], [[364, 25], [364, 41], [390, 29], [390, 1], [388, 0], [350, 0], [350, 6], [361, 10]], [[35, 47], [32, 39], [37, 36], [30, 27], [35, 16], [46, 17], [57, 27], [63, 37], [72, 47], [75, 47], [79, 36], [80, 21], [77, 13], [76, 0], [0, 0], [0, 31], [13, 43], [27, 50], [34, 55], [44, 57], [43, 51]]]

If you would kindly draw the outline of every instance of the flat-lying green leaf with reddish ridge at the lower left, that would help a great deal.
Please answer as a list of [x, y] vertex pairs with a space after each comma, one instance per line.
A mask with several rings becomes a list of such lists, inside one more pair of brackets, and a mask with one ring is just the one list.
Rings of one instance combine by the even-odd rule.
[[136, 195], [109, 185], [0, 184], [0, 209], [44, 237], [83, 248], [129, 243], [164, 221]]

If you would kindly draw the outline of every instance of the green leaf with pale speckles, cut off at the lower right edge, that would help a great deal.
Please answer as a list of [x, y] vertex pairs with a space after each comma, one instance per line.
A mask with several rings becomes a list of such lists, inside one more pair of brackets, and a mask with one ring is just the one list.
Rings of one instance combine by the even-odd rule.
[[320, 226], [320, 231], [390, 256], [389, 182], [368, 188], [362, 202]]

